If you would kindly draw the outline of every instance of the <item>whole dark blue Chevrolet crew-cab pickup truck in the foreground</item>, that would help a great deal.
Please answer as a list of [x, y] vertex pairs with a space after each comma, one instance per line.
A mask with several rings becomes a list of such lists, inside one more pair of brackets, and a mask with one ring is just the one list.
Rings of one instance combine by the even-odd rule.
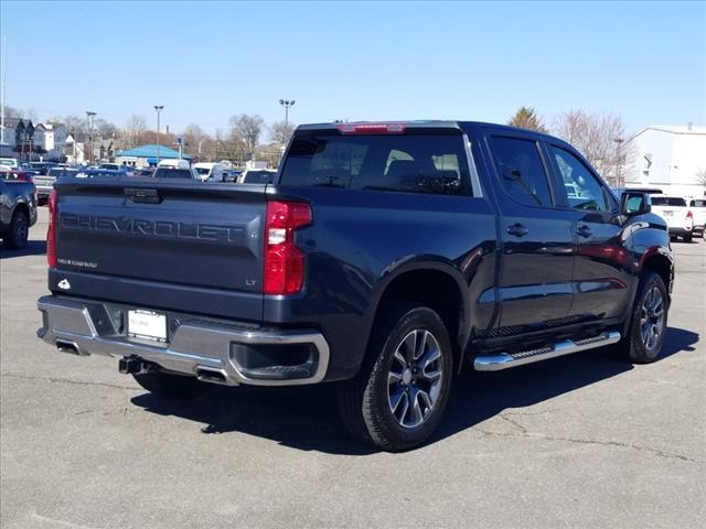
[[38, 335], [117, 357], [156, 395], [332, 382], [350, 432], [400, 451], [432, 434], [463, 366], [611, 344], [650, 363], [664, 343], [665, 222], [550, 136], [309, 125], [274, 183], [55, 191]]

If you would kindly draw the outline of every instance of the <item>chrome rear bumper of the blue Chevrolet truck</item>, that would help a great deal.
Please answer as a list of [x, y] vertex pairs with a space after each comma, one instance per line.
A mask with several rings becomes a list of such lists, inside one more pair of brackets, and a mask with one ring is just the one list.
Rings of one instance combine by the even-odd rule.
[[[38, 300], [43, 326], [38, 336], [62, 352], [79, 356], [104, 355], [139, 357], [161, 368], [184, 375], [217, 374], [228, 386], [291, 386], [323, 380], [329, 366], [329, 345], [315, 331], [268, 330], [200, 320], [179, 322], [168, 344], [151, 344], [116, 332], [105, 306], [98, 302], [74, 301], [46, 295]], [[234, 346], [311, 347], [312, 359], [306, 367], [269, 366], [257, 377], [248, 376], [233, 355]], [[264, 375], [263, 375], [264, 373]], [[297, 378], [291, 377], [295, 374]], [[268, 378], [268, 374], [271, 377]], [[302, 375], [303, 374], [303, 375]], [[207, 380], [214, 381], [214, 380]]]

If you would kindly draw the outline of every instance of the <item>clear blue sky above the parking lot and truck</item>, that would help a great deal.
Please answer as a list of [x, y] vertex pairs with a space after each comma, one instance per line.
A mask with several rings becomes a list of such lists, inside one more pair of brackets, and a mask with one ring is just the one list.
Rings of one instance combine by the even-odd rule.
[[706, 3], [1, 2], [7, 104], [172, 131], [234, 114], [297, 123], [547, 121], [584, 108], [629, 130], [706, 122]]

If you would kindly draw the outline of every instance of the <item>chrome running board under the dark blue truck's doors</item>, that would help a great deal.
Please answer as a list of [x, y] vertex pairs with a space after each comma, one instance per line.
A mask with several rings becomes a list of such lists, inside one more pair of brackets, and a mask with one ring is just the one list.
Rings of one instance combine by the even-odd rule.
[[496, 355], [478, 356], [473, 361], [477, 371], [499, 371], [511, 367], [533, 364], [535, 361], [548, 360], [557, 356], [570, 355], [579, 350], [595, 349], [620, 341], [618, 331], [608, 331], [592, 338], [565, 339], [553, 345], [539, 347], [537, 349], [521, 350], [518, 353], [499, 353]]

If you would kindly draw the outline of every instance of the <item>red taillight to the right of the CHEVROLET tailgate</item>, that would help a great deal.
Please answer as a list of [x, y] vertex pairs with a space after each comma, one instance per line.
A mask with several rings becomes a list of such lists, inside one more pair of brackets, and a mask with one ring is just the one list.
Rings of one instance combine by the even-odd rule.
[[309, 204], [267, 203], [263, 278], [263, 290], [266, 294], [293, 294], [303, 287], [304, 256], [295, 246], [295, 230], [309, 224], [311, 224]]

